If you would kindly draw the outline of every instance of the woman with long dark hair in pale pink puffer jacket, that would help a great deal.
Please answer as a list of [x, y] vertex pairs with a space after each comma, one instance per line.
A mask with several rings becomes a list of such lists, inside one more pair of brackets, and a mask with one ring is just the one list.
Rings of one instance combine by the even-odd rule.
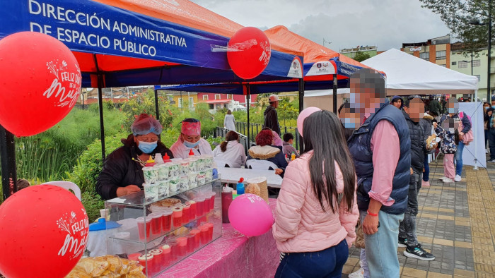
[[341, 123], [310, 108], [299, 116], [307, 116], [298, 126], [304, 153], [286, 168], [276, 203], [273, 236], [283, 259], [275, 277], [341, 277], [356, 239], [356, 174]]

